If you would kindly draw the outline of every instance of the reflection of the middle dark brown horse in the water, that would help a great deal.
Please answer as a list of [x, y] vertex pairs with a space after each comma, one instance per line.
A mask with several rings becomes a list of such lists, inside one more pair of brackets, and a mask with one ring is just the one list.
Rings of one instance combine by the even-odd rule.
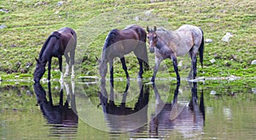
[[129, 84], [126, 84], [122, 103], [117, 105], [113, 98], [113, 83], [110, 86], [110, 99], [108, 99], [106, 85], [102, 83], [99, 98], [110, 132], [142, 132], [143, 126], [148, 123], [149, 87], [142, 82], [138, 82], [138, 85], [140, 89], [139, 97], [134, 108], [131, 108], [127, 107], [125, 103]]

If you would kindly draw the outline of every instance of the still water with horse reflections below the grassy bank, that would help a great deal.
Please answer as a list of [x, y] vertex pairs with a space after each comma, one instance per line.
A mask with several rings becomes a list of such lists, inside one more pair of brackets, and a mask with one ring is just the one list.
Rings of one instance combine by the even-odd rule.
[[256, 139], [256, 81], [0, 85], [1, 139]]

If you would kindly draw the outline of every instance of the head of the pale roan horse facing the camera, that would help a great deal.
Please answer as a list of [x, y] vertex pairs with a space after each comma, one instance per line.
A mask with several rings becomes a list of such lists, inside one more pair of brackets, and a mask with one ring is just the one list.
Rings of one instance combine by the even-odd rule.
[[158, 41], [158, 37], [155, 33], [156, 31], [156, 26], [154, 26], [154, 30], [149, 30], [147, 26], [147, 31], [148, 31], [148, 45], [149, 45], [149, 52], [154, 53], [154, 48], [156, 47], [156, 43]]

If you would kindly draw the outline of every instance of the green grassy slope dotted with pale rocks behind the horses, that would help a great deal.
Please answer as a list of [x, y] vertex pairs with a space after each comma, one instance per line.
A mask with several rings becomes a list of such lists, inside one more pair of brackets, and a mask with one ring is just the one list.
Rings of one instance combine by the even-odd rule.
[[[145, 29], [147, 25], [162, 26], [176, 30], [180, 25], [200, 26], [205, 39], [204, 68], [198, 68], [198, 76], [256, 76], [256, 14], [254, 1], [175, 1], [149, 3], [149, 1], [59, 1], [39, 2], [36, 0], [0, 1], [0, 76], [2, 79], [25, 74], [32, 76], [38, 53], [44, 41], [53, 31], [63, 26], [72, 27], [78, 33], [76, 51], [77, 76], [98, 75], [96, 57], [100, 58], [108, 31], [122, 29], [126, 25], [137, 24]], [[150, 12], [148, 12], [150, 11]], [[149, 14], [146, 14], [149, 13]], [[139, 20], [135, 20], [136, 17]], [[222, 42], [226, 32], [231, 32], [230, 42]], [[187, 59], [186, 57], [178, 58]], [[216, 59], [211, 63], [210, 59]], [[129, 55], [127, 66], [132, 77], [137, 76], [138, 64], [133, 55]], [[158, 77], [173, 73], [171, 60], [166, 60], [170, 70], [163, 68]], [[28, 63], [32, 63], [27, 67]], [[58, 70], [57, 59], [52, 68]], [[150, 67], [154, 67], [154, 55], [149, 54]], [[189, 59], [187, 64], [190, 64]], [[66, 65], [66, 64], [64, 64]], [[164, 65], [161, 64], [161, 65]], [[200, 64], [198, 64], [200, 65]], [[179, 68], [182, 76], [187, 68]], [[125, 76], [119, 59], [114, 63], [115, 76]], [[205, 73], [201, 73], [200, 71]], [[7, 75], [8, 74], [8, 75]], [[145, 76], [151, 76], [152, 70]], [[55, 77], [58, 72], [53, 71]], [[20, 76], [22, 77], [22, 75]]]

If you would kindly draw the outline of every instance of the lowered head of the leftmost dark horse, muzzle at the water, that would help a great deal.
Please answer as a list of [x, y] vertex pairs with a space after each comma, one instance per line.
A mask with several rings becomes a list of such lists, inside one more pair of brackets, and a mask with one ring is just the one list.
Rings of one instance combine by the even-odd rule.
[[37, 65], [33, 75], [34, 75], [34, 81], [38, 82], [40, 81], [42, 76], [44, 76], [46, 63], [42, 62], [39, 59], [36, 59], [36, 61], [37, 61]]

